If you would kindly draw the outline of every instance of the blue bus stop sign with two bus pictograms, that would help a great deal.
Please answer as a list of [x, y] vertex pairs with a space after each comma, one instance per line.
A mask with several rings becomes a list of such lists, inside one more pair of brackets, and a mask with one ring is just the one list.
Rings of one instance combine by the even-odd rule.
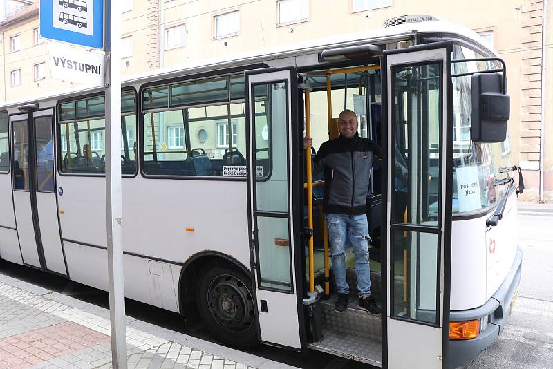
[[40, 36], [104, 48], [104, 0], [40, 0]]

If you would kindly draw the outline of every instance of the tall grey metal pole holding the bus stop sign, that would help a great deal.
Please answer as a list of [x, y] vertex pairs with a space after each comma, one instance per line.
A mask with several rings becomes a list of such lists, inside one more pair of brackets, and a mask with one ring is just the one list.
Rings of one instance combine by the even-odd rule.
[[106, 227], [109, 273], [111, 360], [126, 369], [125, 292], [122, 250], [121, 191], [121, 41], [120, 1], [106, 0], [104, 50], [106, 76]]

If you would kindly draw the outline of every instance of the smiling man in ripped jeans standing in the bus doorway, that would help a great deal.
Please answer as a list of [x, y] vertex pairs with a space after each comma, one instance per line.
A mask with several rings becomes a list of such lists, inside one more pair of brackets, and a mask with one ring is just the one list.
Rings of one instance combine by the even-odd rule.
[[[357, 133], [357, 115], [344, 110], [338, 116], [340, 135], [321, 144], [315, 156], [313, 171], [324, 170], [324, 216], [328, 225], [328, 240], [332, 252], [332, 270], [338, 290], [334, 310], [348, 308], [349, 285], [346, 281], [346, 239], [355, 253], [358, 306], [371, 314], [380, 314], [380, 308], [371, 298], [371, 270], [368, 264], [368, 223], [366, 197], [375, 155], [380, 147]], [[303, 139], [303, 147], [312, 146], [312, 138]], [[346, 238], [347, 236], [347, 238]]]

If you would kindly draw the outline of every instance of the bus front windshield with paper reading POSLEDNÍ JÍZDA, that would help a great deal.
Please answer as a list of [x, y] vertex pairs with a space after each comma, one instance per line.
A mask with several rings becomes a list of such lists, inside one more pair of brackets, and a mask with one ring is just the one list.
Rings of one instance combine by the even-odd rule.
[[[481, 58], [474, 50], [454, 46], [453, 60]], [[453, 75], [496, 69], [491, 61], [453, 63]], [[509, 134], [505, 142], [474, 143], [471, 140], [471, 76], [453, 77], [453, 214], [478, 211], [505, 195], [507, 178], [499, 169], [509, 165]]]

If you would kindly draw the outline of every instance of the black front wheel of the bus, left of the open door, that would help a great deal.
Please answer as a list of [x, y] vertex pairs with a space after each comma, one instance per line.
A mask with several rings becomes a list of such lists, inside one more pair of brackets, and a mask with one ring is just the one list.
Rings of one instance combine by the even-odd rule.
[[233, 269], [209, 265], [198, 280], [196, 303], [207, 328], [229, 346], [259, 343], [250, 278]]

